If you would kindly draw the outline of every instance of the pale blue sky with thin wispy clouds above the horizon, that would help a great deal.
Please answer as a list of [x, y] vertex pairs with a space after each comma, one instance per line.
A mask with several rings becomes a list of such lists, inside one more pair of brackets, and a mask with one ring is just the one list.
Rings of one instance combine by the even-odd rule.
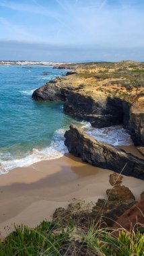
[[0, 0], [0, 60], [144, 61], [144, 0]]

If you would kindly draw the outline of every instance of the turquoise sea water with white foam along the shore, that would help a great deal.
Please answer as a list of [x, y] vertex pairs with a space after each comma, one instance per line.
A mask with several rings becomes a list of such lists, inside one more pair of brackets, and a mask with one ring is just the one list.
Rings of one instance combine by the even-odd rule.
[[67, 152], [64, 133], [71, 123], [112, 145], [132, 143], [127, 131], [114, 127], [94, 129], [63, 113], [61, 102], [36, 102], [32, 92], [66, 70], [47, 66], [0, 66], [0, 174]]

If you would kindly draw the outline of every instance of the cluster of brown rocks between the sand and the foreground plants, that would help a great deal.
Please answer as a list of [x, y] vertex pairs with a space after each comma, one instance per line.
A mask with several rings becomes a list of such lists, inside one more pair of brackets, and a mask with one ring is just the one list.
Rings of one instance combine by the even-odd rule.
[[[124, 193], [122, 191], [124, 190]], [[53, 220], [67, 226], [71, 220], [75, 226], [87, 228], [95, 222], [100, 226], [113, 226], [114, 222], [132, 205], [137, 203], [131, 191], [119, 186], [118, 192], [120, 197], [112, 197], [108, 199], [98, 199], [96, 205], [94, 203], [85, 203], [85, 201], [74, 200], [69, 203], [67, 209], [59, 207], [53, 214]]]

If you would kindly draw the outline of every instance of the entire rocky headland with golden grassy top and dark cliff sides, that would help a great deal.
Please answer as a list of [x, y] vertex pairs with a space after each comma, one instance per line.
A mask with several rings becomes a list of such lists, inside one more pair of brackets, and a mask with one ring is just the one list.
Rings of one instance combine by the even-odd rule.
[[143, 146], [143, 71], [142, 63], [131, 62], [75, 65], [74, 73], [48, 82], [32, 98], [61, 100], [65, 113], [94, 127], [123, 124], [135, 145]]

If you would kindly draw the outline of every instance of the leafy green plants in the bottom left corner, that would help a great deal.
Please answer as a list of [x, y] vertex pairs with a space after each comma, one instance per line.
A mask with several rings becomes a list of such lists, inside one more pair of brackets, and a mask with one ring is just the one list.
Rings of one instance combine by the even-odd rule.
[[69, 239], [69, 231], [69, 228], [64, 231], [58, 224], [45, 221], [35, 229], [15, 226], [15, 231], [0, 241], [0, 256], [59, 256], [61, 247]]

